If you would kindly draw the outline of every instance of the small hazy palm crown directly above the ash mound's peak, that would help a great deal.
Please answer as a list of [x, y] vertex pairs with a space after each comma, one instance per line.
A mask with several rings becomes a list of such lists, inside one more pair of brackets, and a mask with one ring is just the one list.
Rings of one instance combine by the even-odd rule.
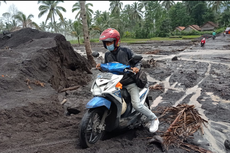
[[20, 11], [16, 15], [13, 16], [15, 20], [21, 23], [22, 28], [38, 27], [37, 24], [31, 20], [31, 18], [33, 17], [34, 15], [32, 14], [30, 14], [29, 16], [26, 16], [24, 13]]

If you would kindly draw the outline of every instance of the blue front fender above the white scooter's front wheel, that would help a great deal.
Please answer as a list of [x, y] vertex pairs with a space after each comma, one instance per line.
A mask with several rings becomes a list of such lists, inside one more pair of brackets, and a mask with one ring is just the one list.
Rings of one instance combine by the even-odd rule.
[[87, 103], [86, 108], [96, 108], [101, 106], [105, 106], [110, 109], [111, 102], [103, 97], [94, 97]]

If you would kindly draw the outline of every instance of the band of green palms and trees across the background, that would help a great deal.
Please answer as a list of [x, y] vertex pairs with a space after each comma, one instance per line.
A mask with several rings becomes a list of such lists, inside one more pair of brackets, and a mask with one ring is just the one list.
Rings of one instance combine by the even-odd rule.
[[[71, 36], [74, 35], [76, 39], [82, 37], [83, 27], [63, 18], [61, 12], [65, 12], [65, 9], [61, 7], [61, 2], [39, 1], [39, 17], [46, 14], [45, 21], [51, 21], [48, 24], [44, 21], [40, 25], [40, 30], [64, 33], [65, 36], [72, 34]], [[108, 12], [97, 10], [92, 18], [92, 4], [86, 3], [87, 23], [91, 38], [98, 37], [105, 29], [111, 27], [117, 29], [123, 38], [171, 37], [176, 39], [182, 36], [211, 34], [211, 31], [173, 32], [177, 26], [201, 26], [207, 21], [219, 25], [220, 30], [216, 30], [217, 33], [223, 32], [222, 27], [230, 26], [230, 5], [227, 4], [229, 4], [228, 1], [135, 1], [133, 4], [123, 6], [121, 1], [110, 1]], [[220, 12], [223, 8], [225, 10]], [[72, 6], [72, 11], [75, 17], [79, 18], [78, 1]], [[59, 22], [55, 20], [56, 17], [60, 19]], [[7, 16], [2, 15], [1, 19], [1, 30], [10, 30], [20, 24], [19, 21], [13, 21], [13, 18], [7, 18]], [[81, 23], [81, 21], [78, 22]], [[91, 40], [91, 42], [97, 41]]]

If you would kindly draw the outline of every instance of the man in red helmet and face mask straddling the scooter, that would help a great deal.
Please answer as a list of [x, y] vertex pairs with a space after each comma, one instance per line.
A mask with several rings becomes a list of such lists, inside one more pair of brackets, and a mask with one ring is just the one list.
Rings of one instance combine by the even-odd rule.
[[[120, 33], [116, 29], [108, 28], [104, 30], [99, 39], [103, 42], [104, 47], [109, 50], [109, 52], [105, 53], [105, 63], [119, 62], [130, 65], [134, 73], [139, 72], [141, 63], [138, 62], [134, 64], [130, 62], [134, 53], [129, 48], [119, 46]], [[96, 65], [96, 68], [101, 69], [100, 63]], [[150, 120], [149, 131], [152, 133], [156, 132], [159, 126], [159, 120], [151, 110], [140, 103], [139, 89], [136, 83], [131, 81], [129, 84], [123, 85], [123, 87], [128, 90], [131, 96], [131, 103], [134, 109], [146, 115]]]

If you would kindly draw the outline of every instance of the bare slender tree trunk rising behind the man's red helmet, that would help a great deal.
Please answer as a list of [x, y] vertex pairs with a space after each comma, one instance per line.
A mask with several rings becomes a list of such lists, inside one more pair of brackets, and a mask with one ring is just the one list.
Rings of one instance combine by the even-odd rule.
[[85, 42], [85, 50], [88, 61], [90, 62], [91, 66], [95, 67], [96, 62], [93, 59], [91, 46], [90, 46], [90, 39], [88, 34], [88, 25], [87, 25], [87, 18], [86, 18], [86, 11], [85, 11], [85, 1], [80, 1], [81, 5], [81, 19], [83, 23], [83, 33], [84, 33], [84, 42]]

